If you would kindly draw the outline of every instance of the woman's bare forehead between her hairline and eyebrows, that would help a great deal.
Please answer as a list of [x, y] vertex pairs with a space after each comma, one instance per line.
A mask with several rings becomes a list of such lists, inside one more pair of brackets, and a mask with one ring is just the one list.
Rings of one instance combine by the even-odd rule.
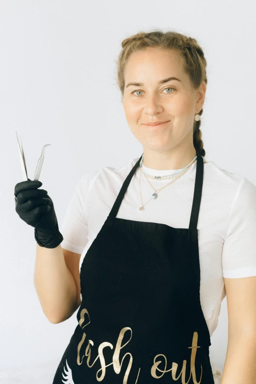
[[158, 80], [163, 77], [175, 76], [184, 79], [179, 53], [170, 49], [144, 49], [132, 52], [125, 66], [125, 81], [143, 82], [150, 78]]

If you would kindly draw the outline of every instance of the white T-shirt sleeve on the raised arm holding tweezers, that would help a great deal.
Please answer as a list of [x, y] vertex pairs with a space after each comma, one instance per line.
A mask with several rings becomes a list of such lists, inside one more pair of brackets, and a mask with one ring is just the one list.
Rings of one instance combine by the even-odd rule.
[[88, 195], [98, 174], [98, 170], [87, 173], [77, 183], [60, 227], [63, 249], [81, 254], [88, 242]]

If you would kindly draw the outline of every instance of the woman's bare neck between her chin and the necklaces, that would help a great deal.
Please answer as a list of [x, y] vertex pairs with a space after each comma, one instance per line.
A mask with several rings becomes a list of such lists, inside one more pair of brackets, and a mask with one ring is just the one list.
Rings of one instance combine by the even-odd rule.
[[183, 169], [197, 155], [194, 146], [185, 151], [175, 148], [166, 151], [143, 148], [143, 154], [143, 165], [156, 170]]

